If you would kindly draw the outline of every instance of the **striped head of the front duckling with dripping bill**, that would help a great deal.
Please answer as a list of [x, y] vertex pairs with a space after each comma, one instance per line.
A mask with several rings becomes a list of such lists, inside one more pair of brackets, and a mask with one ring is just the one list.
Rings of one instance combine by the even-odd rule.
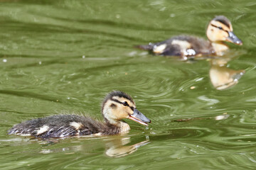
[[122, 91], [112, 91], [105, 97], [102, 103], [102, 115], [107, 123], [117, 125], [120, 120], [128, 118], [142, 125], [151, 123], [136, 108], [132, 97]]

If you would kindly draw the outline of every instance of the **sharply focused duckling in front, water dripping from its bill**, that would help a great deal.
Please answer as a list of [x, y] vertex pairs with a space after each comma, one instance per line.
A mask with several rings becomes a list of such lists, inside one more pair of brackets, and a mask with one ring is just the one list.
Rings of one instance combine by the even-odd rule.
[[112, 91], [102, 103], [105, 123], [82, 115], [52, 115], [46, 118], [27, 120], [14, 125], [9, 135], [32, 136], [41, 139], [84, 135], [117, 135], [129, 132], [130, 128], [122, 119], [128, 118], [142, 125], [151, 123], [140, 113], [132, 97], [122, 91]]

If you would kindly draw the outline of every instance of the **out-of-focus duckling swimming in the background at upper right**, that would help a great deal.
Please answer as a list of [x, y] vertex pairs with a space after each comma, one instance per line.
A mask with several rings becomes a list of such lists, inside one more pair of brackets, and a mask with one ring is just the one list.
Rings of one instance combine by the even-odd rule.
[[226, 42], [242, 45], [234, 33], [233, 27], [225, 16], [216, 16], [208, 24], [206, 30], [208, 40], [189, 35], [178, 35], [163, 42], [138, 45], [142, 50], [149, 50], [156, 55], [181, 56], [184, 60], [188, 57], [201, 57], [206, 55], [223, 56], [228, 50]]

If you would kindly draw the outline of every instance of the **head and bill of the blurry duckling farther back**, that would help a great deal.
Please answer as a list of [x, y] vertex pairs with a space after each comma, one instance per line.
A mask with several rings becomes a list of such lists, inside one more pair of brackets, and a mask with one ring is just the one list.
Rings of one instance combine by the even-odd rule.
[[228, 41], [236, 45], [242, 45], [242, 40], [233, 33], [232, 25], [225, 16], [213, 18], [208, 25], [206, 35], [211, 42]]

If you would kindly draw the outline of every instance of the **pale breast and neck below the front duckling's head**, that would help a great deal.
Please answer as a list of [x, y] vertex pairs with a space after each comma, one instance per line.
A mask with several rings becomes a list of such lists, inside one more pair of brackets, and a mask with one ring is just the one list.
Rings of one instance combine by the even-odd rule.
[[124, 121], [118, 121], [115, 123], [106, 122], [107, 129], [103, 132], [105, 135], [115, 135], [115, 134], [126, 134], [129, 132], [130, 127]]

